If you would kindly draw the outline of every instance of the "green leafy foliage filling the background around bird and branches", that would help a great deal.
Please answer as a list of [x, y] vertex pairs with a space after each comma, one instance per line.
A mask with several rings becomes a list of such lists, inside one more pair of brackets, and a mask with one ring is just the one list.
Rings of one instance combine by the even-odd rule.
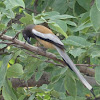
[[[74, 63], [95, 65], [95, 80], [100, 83], [100, 0], [1, 0], [0, 33], [14, 37], [28, 24], [43, 24], [62, 40]], [[24, 41], [22, 34], [17, 37]], [[34, 44], [36, 41], [32, 40]], [[54, 50], [48, 50], [57, 55]], [[31, 57], [27, 50], [0, 39], [0, 89], [5, 100], [86, 100], [90, 92], [67, 67], [44, 62], [46, 57]], [[36, 54], [35, 54], [36, 55]], [[59, 62], [56, 62], [59, 63]], [[49, 73], [50, 83], [40, 87], [13, 88], [10, 79], [38, 81]], [[100, 87], [93, 86], [96, 96]], [[67, 92], [66, 92], [67, 91]], [[87, 95], [87, 97], [85, 97]]]

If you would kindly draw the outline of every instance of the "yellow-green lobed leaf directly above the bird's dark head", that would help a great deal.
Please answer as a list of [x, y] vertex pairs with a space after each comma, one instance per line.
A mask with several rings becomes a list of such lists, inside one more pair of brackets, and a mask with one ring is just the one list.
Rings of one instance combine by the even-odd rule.
[[25, 13], [25, 17], [22, 17], [20, 21], [25, 25], [33, 24], [32, 16], [28, 13]]

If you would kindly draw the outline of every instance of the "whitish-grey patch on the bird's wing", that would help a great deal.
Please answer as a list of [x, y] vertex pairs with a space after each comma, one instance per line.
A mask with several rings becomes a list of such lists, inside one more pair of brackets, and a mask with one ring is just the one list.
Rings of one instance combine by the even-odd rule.
[[61, 44], [61, 45], [64, 45], [61, 40], [54, 34], [44, 34], [44, 33], [41, 33], [41, 32], [38, 32], [36, 31], [35, 29], [32, 29], [32, 33], [35, 34], [36, 36], [39, 36], [41, 38], [44, 38], [44, 39], [49, 39], [55, 43], [58, 43], [58, 44]]

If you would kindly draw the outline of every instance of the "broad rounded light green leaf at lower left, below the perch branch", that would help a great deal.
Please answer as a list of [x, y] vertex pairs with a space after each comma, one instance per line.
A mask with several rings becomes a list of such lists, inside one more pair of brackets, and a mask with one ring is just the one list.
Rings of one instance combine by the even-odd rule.
[[13, 64], [9, 69], [7, 70], [7, 77], [15, 77], [18, 78], [23, 74], [23, 67], [20, 64]]

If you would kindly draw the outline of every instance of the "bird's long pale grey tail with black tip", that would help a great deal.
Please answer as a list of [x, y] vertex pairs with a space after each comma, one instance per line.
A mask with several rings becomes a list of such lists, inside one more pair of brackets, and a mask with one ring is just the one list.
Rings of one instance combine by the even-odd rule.
[[79, 72], [75, 64], [72, 62], [70, 57], [67, 55], [67, 53], [64, 50], [61, 50], [58, 47], [55, 47], [58, 51], [58, 53], [61, 55], [63, 60], [66, 62], [66, 64], [76, 73], [77, 77], [81, 80], [81, 82], [91, 91], [91, 93], [94, 95], [92, 86], [86, 81], [86, 79], [83, 77], [83, 75]]

